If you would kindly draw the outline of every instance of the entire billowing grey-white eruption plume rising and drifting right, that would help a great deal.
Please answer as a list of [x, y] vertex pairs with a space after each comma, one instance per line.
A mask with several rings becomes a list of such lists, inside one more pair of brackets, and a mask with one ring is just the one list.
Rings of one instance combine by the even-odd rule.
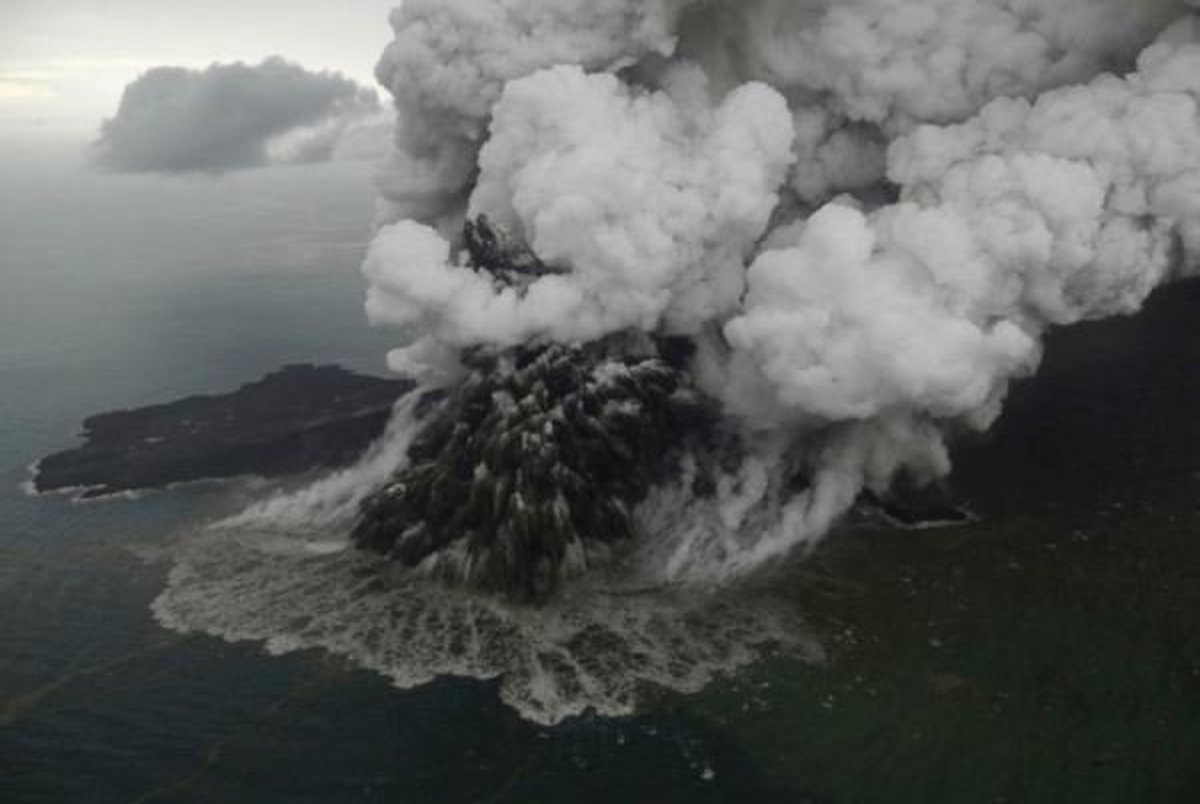
[[[408, 0], [368, 312], [412, 373], [690, 338], [744, 456], [656, 500], [684, 511], [664, 566], [751, 568], [864, 490], [947, 474], [1048, 328], [1196, 264], [1194, 5]], [[476, 270], [478, 216], [556, 270]]]

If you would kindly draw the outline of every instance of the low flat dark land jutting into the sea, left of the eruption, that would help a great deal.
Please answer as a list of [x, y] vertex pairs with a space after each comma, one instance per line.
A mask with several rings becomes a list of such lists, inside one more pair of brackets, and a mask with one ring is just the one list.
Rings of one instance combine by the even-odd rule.
[[84, 497], [236, 475], [278, 476], [354, 461], [413, 384], [292, 365], [229, 394], [91, 416], [83, 445], [43, 458], [38, 492]]

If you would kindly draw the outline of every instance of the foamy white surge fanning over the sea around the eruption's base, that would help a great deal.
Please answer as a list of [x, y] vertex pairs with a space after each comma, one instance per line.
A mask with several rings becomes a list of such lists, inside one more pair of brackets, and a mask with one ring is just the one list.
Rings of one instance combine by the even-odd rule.
[[[546, 725], [589, 709], [630, 714], [649, 689], [696, 692], [769, 654], [823, 659], [798, 613], [768, 592], [667, 583], [652, 552], [635, 550], [533, 608], [348, 550], [365, 491], [407, 458], [420, 396], [397, 404], [354, 467], [182, 539], [152, 604], [158, 623], [272, 654], [324, 649], [401, 689], [499, 679], [509, 706]], [[665, 535], [654, 514], [671, 508], [647, 506], [648, 533]]]

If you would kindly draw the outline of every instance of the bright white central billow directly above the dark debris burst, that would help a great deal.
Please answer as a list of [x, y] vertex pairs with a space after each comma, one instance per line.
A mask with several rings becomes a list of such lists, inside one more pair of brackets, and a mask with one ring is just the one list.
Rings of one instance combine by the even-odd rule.
[[691, 89], [648, 94], [577, 67], [510, 83], [470, 212], [569, 272], [494, 287], [456, 265], [437, 232], [401, 222], [366, 262], [372, 319], [454, 346], [512, 346], [624, 329], [694, 334], [732, 313], [792, 158], [791, 118], [764, 84], [715, 107]]

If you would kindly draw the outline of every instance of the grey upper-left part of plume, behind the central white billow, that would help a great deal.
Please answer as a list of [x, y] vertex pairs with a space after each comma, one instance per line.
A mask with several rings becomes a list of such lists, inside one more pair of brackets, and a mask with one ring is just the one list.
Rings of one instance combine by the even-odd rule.
[[556, 65], [616, 71], [668, 54], [690, 0], [406, 0], [376, 77], [395, 97], [385, 220], [461, 212], [508, 82]]

